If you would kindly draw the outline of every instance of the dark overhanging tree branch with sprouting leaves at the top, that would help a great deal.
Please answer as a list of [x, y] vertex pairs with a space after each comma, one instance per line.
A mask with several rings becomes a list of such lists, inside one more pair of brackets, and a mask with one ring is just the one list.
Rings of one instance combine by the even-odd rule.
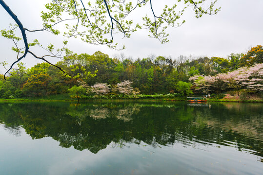
[[[202, 10], [199, 4], [204, 3], [205, 1], [211, 1], [211, 4], [208, 6], [206, 10]], [[184, 8], [181, 9], [181, 11], [179, 11], [178, 13], [177, 11], [175, 11], [177, 7], [176, 4], [174, 4], [173, 6], [166, 5], [162, 9], [161, 14], [158, 15], [152, 6], [152, 0], [137, 0], [137, 2], [134, 4], [135, 7], [133, 6], [133, 0], [95, 0], [92, 3], [84, 0], [51, 0], [50, 3], [47, 3], [45, 5], [47, 11], [41, 12], [43, 28], [40, 30], [28, 30], [23, 27], [18, 17], [11, 11], [8, 5], [5, 4], [4, 0], [0, 0], [1, 6], [18, 24], [25, 45], [25, 47], [21, 49], [18, 47], [16, 42], [16, 40], [20, 40], [21, 38], [16, 38], [16, 40], [13, 40], [16, 48], [13, 47], [12, 50], [18, 52], [18, 56], [17, 56], [18, 59], [11, 65], [8, 71], [13, 69], [13, 66], [27, 55], [27, 53], [29, 52], [29, 46], [31, 47], [37, 44], [36, 42], [28, 43], [25, 33], [26, 31], [27, 32], [48, 31], [53, 33], [54, 35], [58, 35], [60, 34], [60, 31], [58, 29], [54, 29], [53, 28], [54, 26], [57, 26], [57, 24], [63, 21], [75, 19], [78, 21], [77, 23], [74, 24], [65, 23], [64, 36], [80, 37], [81, 40], [84, 42], [96, 44], [96, 45], [98, 44], [107, 45], [109, 48], [116, 49], [118, 43], [112, 44], [113, 34], [123, 33], [124, 37], [128, 38], [131, 35], [130, 33], [135, 32], [137, 29], [149, 29], [150, 37], [159, 39], [161, 43], [166, 43], [169, 40], [167, 39], [168, 34], [166, 34], [165, 29], [167, 28], [167, 26], [179, 27], [180, 25], [182, 25], [184, 23], [184, 20], [180, 22], [182, 24], [176, 21], [179, 18], [181, 18], [184, 10], [188, 6], [191, 5], [194, 6], [194, 10], [196, 11], [196, 15], [197, 15], [196, 18], [199, 18], [202, 17], [202, 14], [209, 14], [209, 15], [212, 15], [213, 13], [216, 14], [220, 9], [219, 8], [213, 10], [216, 1], [217, 0], [200, 0], [198, 2], [197, 1], [194, 2], [193, 0], [184, 0], [183, 2], [179, 1], [179, 3], [185, 4]], [[147, 15], [145, 15], [142, 18], [144, 23], [142, 24], [137, 23], [135, 25], [133, 23], [133, 19], [126, 18], [137, 7], [144, 6], [147, 3], [148, 4], [150, 3], [149, 8], [152, 11], [153, 17], [149, 18], [147, 17]], [[154, 20], [152, 21], [153, 18]], [[142, 26], [144, 27], [142, 28]], [[2, 31], [6, 32], [5, 30]], [[7, 35], [5, 35], [4, 37], [8, 39], [12, 39], [10, 36]], [[42, 47], [42, 45], [40, 45], [39, 42], [38, 45]], [[125, 47], [123, 46], [122, 49], [124, 48]], [[48, 46], [48, 49], [46, 49], [46, 51], [52, 54], [51, 55], [52, 57], [61, 58], [63, 57], [63, 55], [61, 56], [62, 52], [65, 52], [66, 55], [71, 54], [71, 52], [67, 48], [58, 49], [58, 53], [53, 54], [52, 52], [53, 49], [54, 49], [53, 44], [50, 44]], [[24, 51], [23, 55], [20, 56], [19, 53], [22, 53], [23, 51]], [[34, 57], [38, 59], [42, 59], [43, 61], [46, 61], [47, 63], [51, 64], [44, 58], [45, 56], [38, 57], [36, 56], [36, 54], [32, 53], [31, 51], [30, 53]]]

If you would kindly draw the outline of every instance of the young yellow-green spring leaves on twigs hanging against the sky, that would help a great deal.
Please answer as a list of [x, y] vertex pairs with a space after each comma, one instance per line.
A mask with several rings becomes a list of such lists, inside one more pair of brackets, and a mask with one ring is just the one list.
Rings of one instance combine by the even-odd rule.
[[[38, 39], [28, 41], [27, 35], [30, 33], [43, 31], [54, 35], [62, 33], [65, 37], [77, 37], [87, 43], [106, 45], [112, 49], [124, 49], [125, 46], [119, 47], [115, 42], [115, 35], [119, 33], [122, 37], [129, 38], [131, 33], [138, 29], [145, 29], [148, 30], [150, 37], [165, 43], [169, 41], [167, 27], [181, 26], [185, 22], [181, 18], [187, 8], [192, 8], [195, 18], [200, 18], [205, 14], [217, 14], [220, 7], [215, 7], [216, 2], [217, 0], [177, 0], [172, 5], [162, 7], [160, 2], [152, 0], [52, 0], [45, 4], [45, 10], [41, 11], [42, 28], [28, 29], [23, 25], [20, 17], [5, 3], [5, 0], [0, 0], [0, 5], [16, 22], [16, 25], [10, 25], [10, 30], [1, 30], [3, 37], [14, 42], [15, 47], [12, 47], [12, 50], [17, 53], [18, 58], [7, 72], [26, 57], [27, 53], [51, 65], [53, 64], [46, 58], [72, 54], [65, 47], [67, 41], [63, 42], [62, 48], [55, 49], [56, 46], [52, 42], [48, 46], [42, 46]], [[178, 4], [181, 4], [180, 8]], [[140, 8], [141, 12], [137, 11]], [[140, 14], [139, 22], [135, 14]], [[59, 27], [61, 25], [64, 27]], [[17, 28], [20, 29], [22, 37], [15, 35], [14, 30]], [[47, 54], [39, 56], [33, 53], [30, 49], [33, 46], [41, 47]], [[69, 74], [61, 67], [53, 66]]]

